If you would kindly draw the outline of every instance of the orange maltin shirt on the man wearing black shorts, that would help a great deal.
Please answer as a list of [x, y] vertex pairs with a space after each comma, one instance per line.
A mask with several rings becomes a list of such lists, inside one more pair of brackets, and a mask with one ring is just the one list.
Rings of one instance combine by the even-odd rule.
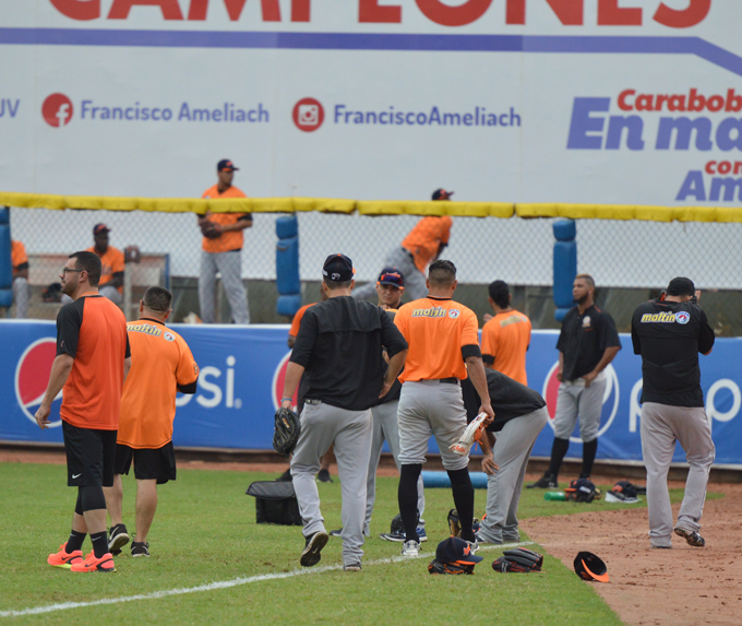
[[199, 366], [185, 341], [160, 321], [130, 321], [127, 332], [131, 369], [117, 441], [130, 448], [161, 448], [172, 439], [178, 385], [195, 382]]

